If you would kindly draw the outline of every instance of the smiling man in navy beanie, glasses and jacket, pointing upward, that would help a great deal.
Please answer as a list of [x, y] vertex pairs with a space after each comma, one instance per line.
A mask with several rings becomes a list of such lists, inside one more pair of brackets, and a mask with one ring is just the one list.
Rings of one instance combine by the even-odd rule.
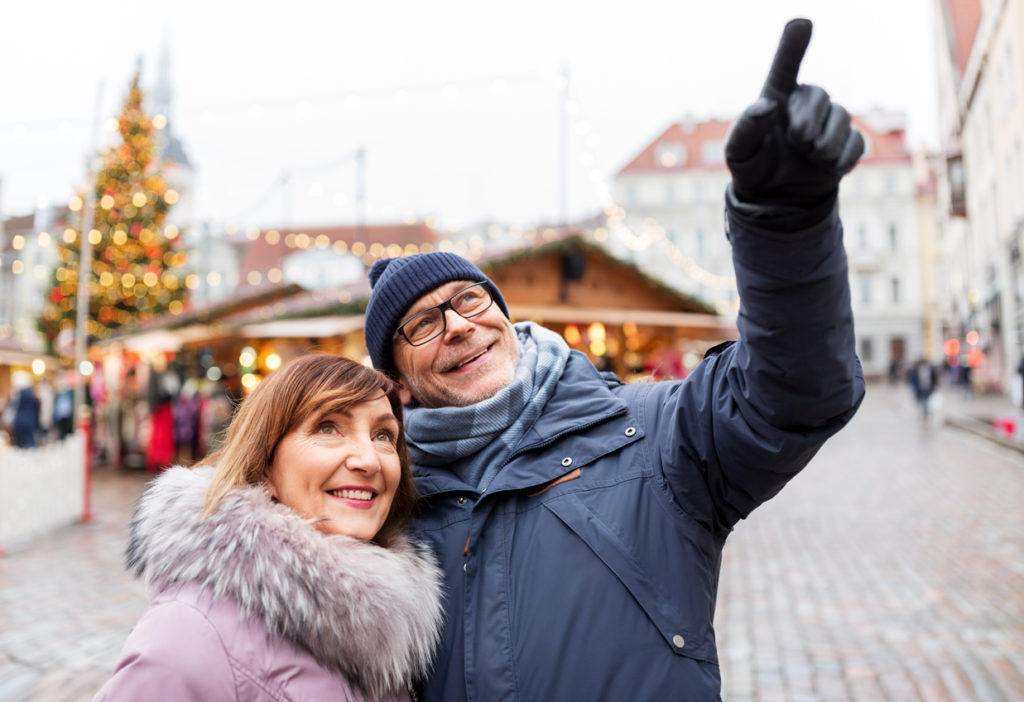
[[406, 387], [417, 528], [447, 578], [423, 700], [719, 698], [726, 537], [863, 395], [837, 209], [863, 141], [797, 85], [809, 39], [809, 21], [786, 26], [727, 140], [740, 337], [686, 380], [599, 374], [513, 324], [459, 256], [371, 270], [367, 346]]

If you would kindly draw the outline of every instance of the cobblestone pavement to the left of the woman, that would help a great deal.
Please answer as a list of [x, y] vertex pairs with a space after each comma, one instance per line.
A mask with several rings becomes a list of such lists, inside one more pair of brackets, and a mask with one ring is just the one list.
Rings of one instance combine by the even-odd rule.
[[97, 467], [90, 522], [0, 558], [0, 702], [90, 700], [110, 677], [145, 607], [124, 550], [151, 477]]

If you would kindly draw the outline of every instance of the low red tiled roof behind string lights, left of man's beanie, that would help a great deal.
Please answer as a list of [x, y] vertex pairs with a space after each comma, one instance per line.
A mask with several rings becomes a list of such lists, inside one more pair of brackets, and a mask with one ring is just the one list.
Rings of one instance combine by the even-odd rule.
[[266, 240], [266, 231], [260, 232], [260, 236], [254, 242], [242, 242], [243, 255], [239, 272], [243, 279], [250, 271], [262, 273], [271, 268], [281, 268], [285, 258], [297, 251], [287, 246], [286, 239], [289, 234], [306, 234], [310, 239], [325, 235], [332, 246], [335, 242], [344, 242], [348, 248], [351, 248], [356, 242], [362, 242], [368, 247], [374, 244], [381, 244], [385, 247], [394, 244], [404, 248], [409, 244], [435, 244], [440, 238], [432, 227], [422, 222], [416, 224], [369, 224], [364, 227], [354, 225], [295, 227], [278, 229], [276, 231], [280, 234], [276, 244], [269, 244]]

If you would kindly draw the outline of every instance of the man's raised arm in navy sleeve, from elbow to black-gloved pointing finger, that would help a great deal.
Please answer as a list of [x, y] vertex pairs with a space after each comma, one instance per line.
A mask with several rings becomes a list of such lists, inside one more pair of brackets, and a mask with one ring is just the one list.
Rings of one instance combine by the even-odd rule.
[[[863, 396], [837, 206], [863, 139], [824, 90], [797, 83], [810, 31], [806, 19], [786, 25], [761, 96], [726, 142], [739, 340], [669, 399], [680, 439], [663, 442], [663, 467], [708, 524], [730, 527], [774, 495]], [[692, 497], [705, 493], [711, 512]]]

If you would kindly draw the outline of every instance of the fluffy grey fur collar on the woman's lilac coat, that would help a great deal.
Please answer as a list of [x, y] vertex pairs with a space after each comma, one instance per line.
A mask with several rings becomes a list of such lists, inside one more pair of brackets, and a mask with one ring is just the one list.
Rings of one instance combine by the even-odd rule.
[[210, 467], [177, 467], [153, 483], [132, 519], [129, 570], [234, 600], [375, 697], [427, 671], [441, 606], [426, 547], [325, 535], [260, 487], [230, 493], [200, 524], [212, 476]]

